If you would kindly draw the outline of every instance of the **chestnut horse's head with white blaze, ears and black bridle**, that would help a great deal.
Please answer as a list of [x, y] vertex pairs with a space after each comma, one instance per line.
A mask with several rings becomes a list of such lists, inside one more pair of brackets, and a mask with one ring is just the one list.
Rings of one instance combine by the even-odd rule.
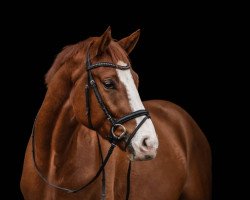
[[78, 43], [74, 52], [69, 51], [70, 101], [81, 124], [104, 139], [116, 139], [130, 160], [149, 160], [156, 156], [158, 138], [140, 99], [138, 75], [128, 57], [139, 36], [138, 30], [116, 41], [108, 28], [100, 37], [91, 37]]

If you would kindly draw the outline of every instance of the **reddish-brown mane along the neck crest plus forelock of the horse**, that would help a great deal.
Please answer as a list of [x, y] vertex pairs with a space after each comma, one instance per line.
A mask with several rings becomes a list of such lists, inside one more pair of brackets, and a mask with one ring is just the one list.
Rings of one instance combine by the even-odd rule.
[[[97, 39], [97, 37], [93, 37], [92, 41], [90, 42], [95, 43]], [[85, 46], [86, 41], [81, 41], [77, 44], [68, 45], [64, 47], [63, 50], [56, 56], [51, 68], [45, 75], [45, 84], [48, 86], [51, 79], [54, 77], [56, 72], [63, 66], [63, 64], [71, 60]], [[97, 48], [97, 45], [93, 45], [93, 47], [91, 47], [91, 51], [97, 52]], [[110, 42], [110, 45], [107, 47], [106, 51], [107, 54], [110, 55], [110, 58], [113, 63], [117, 63], [119, 60], [123, 60], [124, 62], [129, 63], [129, 58], [126, 51], [124, 51], [124, 49], [122, 49], [121, 46], [115, 40], [112, 40]]]

